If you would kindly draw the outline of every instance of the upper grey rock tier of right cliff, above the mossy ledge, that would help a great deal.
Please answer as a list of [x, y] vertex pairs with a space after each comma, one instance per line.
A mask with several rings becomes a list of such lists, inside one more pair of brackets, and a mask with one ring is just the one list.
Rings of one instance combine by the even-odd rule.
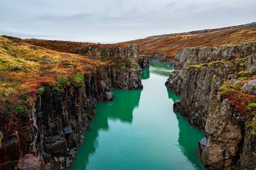
[[244, 58], [255, 52], [256, 42], [247, 42], [236, 46], [221, 45], [212, 48], [179, 49], [175, 56], [175, 71], [170, 74], [166, 82], [168, 90], [174, 91], [177, 95], [181, 95], [183, 79], [186, 77], [186, 69], [191, 65]]

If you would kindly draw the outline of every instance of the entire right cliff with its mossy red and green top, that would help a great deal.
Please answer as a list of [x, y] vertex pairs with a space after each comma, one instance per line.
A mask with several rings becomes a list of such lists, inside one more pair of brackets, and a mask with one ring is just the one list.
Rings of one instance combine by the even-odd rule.
[[204, 130], [198, 152], [207, 169], [256, 168], [256, 42], [183, 48], [166, 82], [174, 110]]

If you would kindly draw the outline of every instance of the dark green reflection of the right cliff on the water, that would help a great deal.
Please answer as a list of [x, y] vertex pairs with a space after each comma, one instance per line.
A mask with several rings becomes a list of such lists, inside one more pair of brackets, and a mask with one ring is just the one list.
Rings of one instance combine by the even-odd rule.
[[[173, 102], [180, 99], [172, 91], [168, 91], [169, 99]], [[195, 169], [205, 170], [200, 159], [198, 159], [197, 146], [198, 142], [205, 136], [201, 130], [188, 124], [187, 118], [181, 116], [179, 113], [175, 113], [178, 120], [179, 138], [178, 143], [181, 152], [186, 156], [187, 161], [192, 164]]]

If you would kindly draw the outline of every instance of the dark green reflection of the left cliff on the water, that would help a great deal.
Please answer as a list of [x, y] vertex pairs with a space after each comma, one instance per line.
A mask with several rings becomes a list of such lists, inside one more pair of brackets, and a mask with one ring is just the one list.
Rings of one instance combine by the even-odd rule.
[[109, 130], [108, 121], [132, 123], [133, 111], [139, 106], [142, 89], [134, 91], [112, 90], [112, 92], [114, 94], [112, 101], [96, 104], [96, 116], [90, 124], [90, 129], [86, 131], [84, 143], [79, 147], [78, 156], [73, 162], [76, 164], [76, 168], [86, 169], [90, 156], [95, 153], [99, 146], [99, 133], [102, 130]]

